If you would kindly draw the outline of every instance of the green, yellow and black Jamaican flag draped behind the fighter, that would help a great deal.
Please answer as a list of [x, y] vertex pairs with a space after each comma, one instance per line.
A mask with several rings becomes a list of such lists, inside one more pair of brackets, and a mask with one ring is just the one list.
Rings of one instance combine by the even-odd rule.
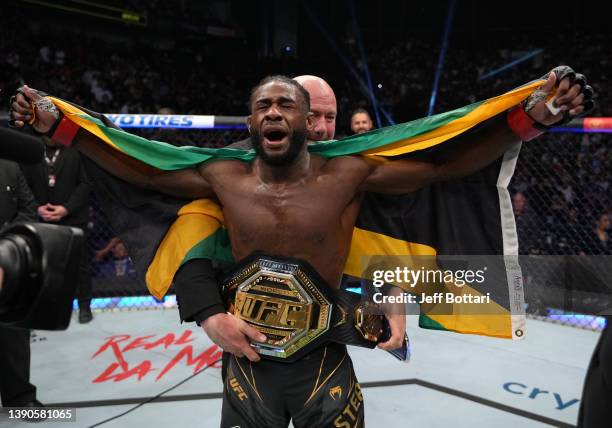
[[[312, 143], [308, 150], [327, 158], [405, 157], [435, 151], [520, 103], [543, 83], [533, 81], [498, 97], [366, 134]], [[153, 296], [165, 295], [174, 274], [187, 260], [233, 261], [223, 213], [215, 200], [178, 200], [142, 190], [110, 175], [95, 161], [112, 157], [155, 174], [211, 160], [250, 162], [255, 157], [253, 150], [174, 147], [124, 132], [98, 113], [50, 99], [65, 117], [98, 137], [99, 144], [86, 153], [87, 171], [107, 216]], [[519, 147], [509, 150], [502, 159], [470, 177], [437, 183], [411, 195], [366, 195], [345, 274], [364, 276], [361, 263], [369, 255], [516, 255], [518, 243], [507, 185], [518, 151]], [[420, 325], [504, 338], [523, 336], [522, 283], [520, 273], [518, 283], [514, 276], [512, 280], [508, 275], [506, 286], [495, 291], [487, 315], [466, 314], [461, 304], [451, 305], [445, 313], [425, 308]], [[480, 294], [470, 287], [464, 287], [462, 293]]]

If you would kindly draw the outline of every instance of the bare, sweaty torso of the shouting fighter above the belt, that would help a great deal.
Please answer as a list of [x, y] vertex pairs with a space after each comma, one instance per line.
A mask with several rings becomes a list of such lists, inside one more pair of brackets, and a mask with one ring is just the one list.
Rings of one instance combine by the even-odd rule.
[[264, 183], [253, 164], [219, 162], [205, 176], [223, 207], [236, 260], [254, 251], [309, 262], [338, 287], [367, 173], [354, 158], [311, 156], [301, 180]]

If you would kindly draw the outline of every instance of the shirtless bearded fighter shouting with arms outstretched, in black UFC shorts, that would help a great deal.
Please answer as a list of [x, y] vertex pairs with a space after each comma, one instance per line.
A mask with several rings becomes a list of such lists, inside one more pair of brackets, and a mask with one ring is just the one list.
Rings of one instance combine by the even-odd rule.
[[[553, 90], [556, 76], [541, 91]], [[25, 95], [36, 101], [30, 89]], [[473, 173], [520, 141], [500, 115], [470, 135], [451, 159], [431, 163], [415, 159], [378, 160], [361, 156], [333, 159], [311, 155], [306, 136], [314, 129], [308, 92], [284, 76], [264, 79], [252, 92], [247, 119], [257, 156], [251, 163], [210, 162], [194, 169], [150, 176], [125, 170], [109, 159], [94, 159], [111, 173], [134, 184], [182, 198], [218, 198], [225, 217], [233, 256], [242, 260], [254, 251], [299, 258], [308, 262], [329, 287], [338, 287], [350, 246], [363, 192], [403, 194], [439, 180]], [[531, 120], [552, 125], [565, 112], [584, 109], [581, 85], [563, 79], [557, 106], [550, 113], [544, 99], [529, 110]], [[31, 107], [18, 95], [13, 118], [29, 120]], [[33, 126], [48, 132], [55, 118], [38, 112]], [[79, 130], [74, 140], [87, 155], [98, 144], [96, 137]], [[144, 171], [144, 170], [143, 170]], [[294, 363], [262, 359], [248, 346], [265, 337], [230, 314], [214, 317], [218, 328], [211, 339], [234, 354], [228, 363], [224, 388], [222, 426], [296, 427], [363, 426], [363, 398], [343, 345], [327, 344]], [[405, 317], [389, 316], [391, 338], [384, 349], [400, 346]], [[224, 337], [223, 328], [232, 337]], [[238, 333], [235, 333], [238, 331]], [[246, 358], [241, 357], [242, 355]], [[341, 392], [342, 391], [342, 392]]]

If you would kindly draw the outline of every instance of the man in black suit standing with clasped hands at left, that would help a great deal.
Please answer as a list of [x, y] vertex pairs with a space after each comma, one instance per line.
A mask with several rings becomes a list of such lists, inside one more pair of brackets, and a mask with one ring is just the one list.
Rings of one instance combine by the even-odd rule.
[[[45, 158], [38, 164], [24, 165], [23, 172], [38, 204], [44, 222], [72, 226], [86, 232], [90, 185], [76, 150], [64, 148], [45, 138]], [[77, 288], [79, 322], [92, 320], [91, 272], [87, 252], [83, 252]]]

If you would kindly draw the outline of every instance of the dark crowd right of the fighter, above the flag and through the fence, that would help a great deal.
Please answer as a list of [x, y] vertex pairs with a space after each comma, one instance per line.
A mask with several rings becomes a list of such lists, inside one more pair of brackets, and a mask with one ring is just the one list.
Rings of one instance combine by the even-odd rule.
[[[575, 64], [600, 95], [601, 102], [590, 115], [612, 116], [612, 103], [605, 100], [611, 84], [607, 73], [610, 59], [600, 54], [601, 46], [612, 42], [609, 34], [560, 33], [555, 43], [533, 39], [533, 34], [513, 34], [512, 43], [502, 49], [498, 40], [450, 47], [444, 58], [434, 113], [499, 95], [555, 65]], [[577, 39], [583, 43], [574, 43]], [[352, 45], [348, 43], [347, 47]], [[406, 120], [426, 115], [438, 63], [432, 52], [438, 52], [439, 45], [439, 41], [408, 40], [369, 51], [370, 73], [377, 76], [374, 88], [387, 113]], [[355, 46], [352, 49], [357, 50]], [[504, 64], [540, 49], [542, 52], [532, 59], [486, 77]], [[353, 56], [357, 58], [357, 52]], [[347, 87], [350, 96], [340, 97], [341, 110], [356, 104], [368, 106], [367, 97], [357, 85]], [[608, 135], [548, 133], [523, 146], [510, 185], [521, 254], [612, 254], [612, 158]]]

